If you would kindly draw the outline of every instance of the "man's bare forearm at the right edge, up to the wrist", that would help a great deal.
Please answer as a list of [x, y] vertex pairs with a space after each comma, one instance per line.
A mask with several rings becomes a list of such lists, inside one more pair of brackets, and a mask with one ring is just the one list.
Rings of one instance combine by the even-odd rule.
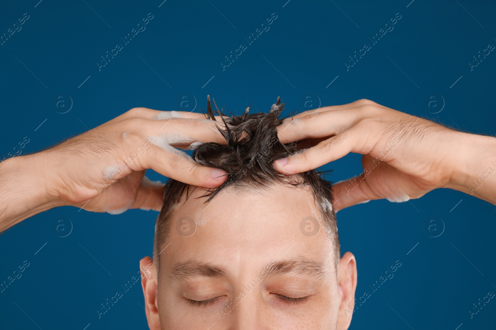
[[451, 160], [456, 170], [446, 188], [496, 204], [496, 138], [463, 132], [459, 136]]

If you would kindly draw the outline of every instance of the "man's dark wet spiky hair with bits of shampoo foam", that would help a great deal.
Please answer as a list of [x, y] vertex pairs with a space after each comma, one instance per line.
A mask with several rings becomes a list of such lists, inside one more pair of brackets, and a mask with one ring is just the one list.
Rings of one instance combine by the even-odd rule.
[[[215, 100], [214, 100], [215, 104]], [[228, 186], [239, 190], [270, 189], [275, 183], [290, 186], [310, 186], [315, 205], [323, 216], [323, 228], [335, 243], [336, 267], [340, 260], [340, 246], [336, 226], [336, 214], [332, 210], [331, 182], [325, 180], [322, 172], [310, 170], [297, 175], [288, 176], [277, 172], [272, 163], [298, 151], [301, 141], [281, 143], [277, 136], [277, 126], [284, 118], [278, 118], [283, 111], [284, 103], [278, 97], [269, 113], [249, 114], [247, 107], [241, 116], [228, 117], [215, 108], [223, 121], [224, 127], [217, 126], [219, 133], [226, 139], [227, 144], [206, 142], [194, 144], [192, 158], [200, 165], [220, 168], [227, 172], [227, 179], [218, 188], [207, 189], [200, 197], [208, 197], [209, 202], [217, 193]], [[207, 95], [206, 118], [216, 121], [210, 96]], [[289, 117], [289, 115], [288, 115]], [[195, 186], [170, 179], [164, 187], [164, 204], [155, 224], [154, 260], [160, 265], [159, 247], [166, 242], [170, 233], [173, 206], [189, 197]], [[197, 198], [200, 198], [197, 197]], [[240, 203], [242, 203], [240, 199]], [[297, 219], [295, 219], [297, 221]], [[295, 223], [299, 226], [300, 221]]]

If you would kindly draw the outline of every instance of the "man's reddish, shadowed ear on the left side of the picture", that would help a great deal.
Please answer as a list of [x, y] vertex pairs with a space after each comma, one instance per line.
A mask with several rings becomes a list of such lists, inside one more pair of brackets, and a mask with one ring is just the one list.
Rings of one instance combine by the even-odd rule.
[[160, 330], [160, 320], [157, 308], [157, 269], [150, 257], [144, 257], [139, 261], [141, 271], [141, 286], [145, 296], [145, 312], [150, 330]]

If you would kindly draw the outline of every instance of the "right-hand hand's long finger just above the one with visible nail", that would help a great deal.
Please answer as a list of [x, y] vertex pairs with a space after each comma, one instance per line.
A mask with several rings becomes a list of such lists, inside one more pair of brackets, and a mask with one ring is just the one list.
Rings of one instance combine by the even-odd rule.
[[345, 109], [315, 113], [304, 118], [285, 122], [277, 127], [279, 141], [288, 143], [306, 138], [323, 138], [337, 135], [364, 118], [363, 109]]

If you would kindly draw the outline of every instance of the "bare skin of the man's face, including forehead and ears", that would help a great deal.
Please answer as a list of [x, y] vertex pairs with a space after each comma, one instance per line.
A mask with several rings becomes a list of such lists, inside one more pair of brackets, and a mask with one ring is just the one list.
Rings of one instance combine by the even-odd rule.
[[[348, 329], [357, 284], [355, 257], [345, 253], [336, 272], [339, 256], [323, 227], [315, 236], [302, 234], [302, 219], [321, 219], [308, 190], [281, 184], [261, 192], [227, 188], [208, 204], [205, 197], [194, 198], [203, 192], [195, 189], [172, 213], [169, 237], [159, 247], [160, 279], [157, 263], [150, 257], [140, 261], [151, 330], [208, 329], [212, 324], [219, 330]], [[191, 236], [176, 231], [183, 217], [196, 224]], [[297, 258], [320, 263], [324, 273], [262, 272], [271, 261]], [[187, 261], [224, 268], [228, 274], [188, 276], [173, 271]], [[247, 290], [250, 282], [254, 284]], [[288, 303], [279, 295], [308, 298]], [[212, 298], [207, 306], [188, 300]], [[230, 298], [237, 302], [231, 310], [225, 307]]]

